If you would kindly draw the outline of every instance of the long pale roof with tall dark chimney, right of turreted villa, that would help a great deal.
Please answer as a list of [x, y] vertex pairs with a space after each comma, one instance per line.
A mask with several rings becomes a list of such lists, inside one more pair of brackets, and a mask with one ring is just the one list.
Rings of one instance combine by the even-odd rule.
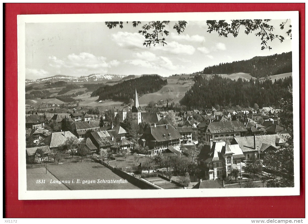
[[256, 148], [254, 149], [253, 136], [234, 137], [243, 152], [252, 152], [260, 149], [263, 143], [269, 145], [276, 145], [276, 138], [280, 138], [281, 141], [286, 142], [286, 139], [290, 137], [290, 134], [275, 134], [275, 135], [257, 135], [255, 136]]

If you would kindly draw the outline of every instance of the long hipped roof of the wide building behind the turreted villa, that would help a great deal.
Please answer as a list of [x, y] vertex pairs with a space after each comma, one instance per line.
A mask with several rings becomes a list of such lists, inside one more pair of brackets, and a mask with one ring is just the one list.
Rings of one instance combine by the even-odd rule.
[[240, 121], [219, 121], [211, 122], [208, 126], [209, 131], [212, 134], [218, 133], [232, 133], [232, 132], [246, 132], [244, 124]]

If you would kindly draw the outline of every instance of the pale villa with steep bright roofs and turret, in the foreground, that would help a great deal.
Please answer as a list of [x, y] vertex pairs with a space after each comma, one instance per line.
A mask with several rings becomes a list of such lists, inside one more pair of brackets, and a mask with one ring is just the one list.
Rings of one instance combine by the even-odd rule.
[[231, 177], [231, 170], [235, 168], [241, 173], [241, 159], [245, 156], [236, 142], [214, 140], [211, 145], [204, 145], [196, 158], [205, 178], [215, 180]]

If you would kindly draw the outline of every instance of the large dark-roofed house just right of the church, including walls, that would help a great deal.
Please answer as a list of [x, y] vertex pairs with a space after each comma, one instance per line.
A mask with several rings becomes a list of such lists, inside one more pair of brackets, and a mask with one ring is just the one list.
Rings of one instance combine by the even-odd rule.
[[163, 152], [168, 146], [180, 147], [181, 138], [181, 134], [171, 124], [154, 124], [146, 129], [138, 142], [148, 146], [156, 154]]

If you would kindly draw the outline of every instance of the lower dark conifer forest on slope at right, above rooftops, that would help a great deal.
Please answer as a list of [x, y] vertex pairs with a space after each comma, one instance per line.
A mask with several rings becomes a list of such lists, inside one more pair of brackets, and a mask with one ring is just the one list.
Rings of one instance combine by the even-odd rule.
[[242, 106], [253, 107], [256, 103], [259, 107], [275, 105], [279, 106], [281, 98], [292, 100], [288, 86], [292, 87], [292, 77], [264, 81], [245, 79], [232, 80], [214, 75], [206, 79], [202, 75], [195, 76], [195, 83], [180, 101], [182, 105], [190, 109], [203, 109], [211, 106]]

